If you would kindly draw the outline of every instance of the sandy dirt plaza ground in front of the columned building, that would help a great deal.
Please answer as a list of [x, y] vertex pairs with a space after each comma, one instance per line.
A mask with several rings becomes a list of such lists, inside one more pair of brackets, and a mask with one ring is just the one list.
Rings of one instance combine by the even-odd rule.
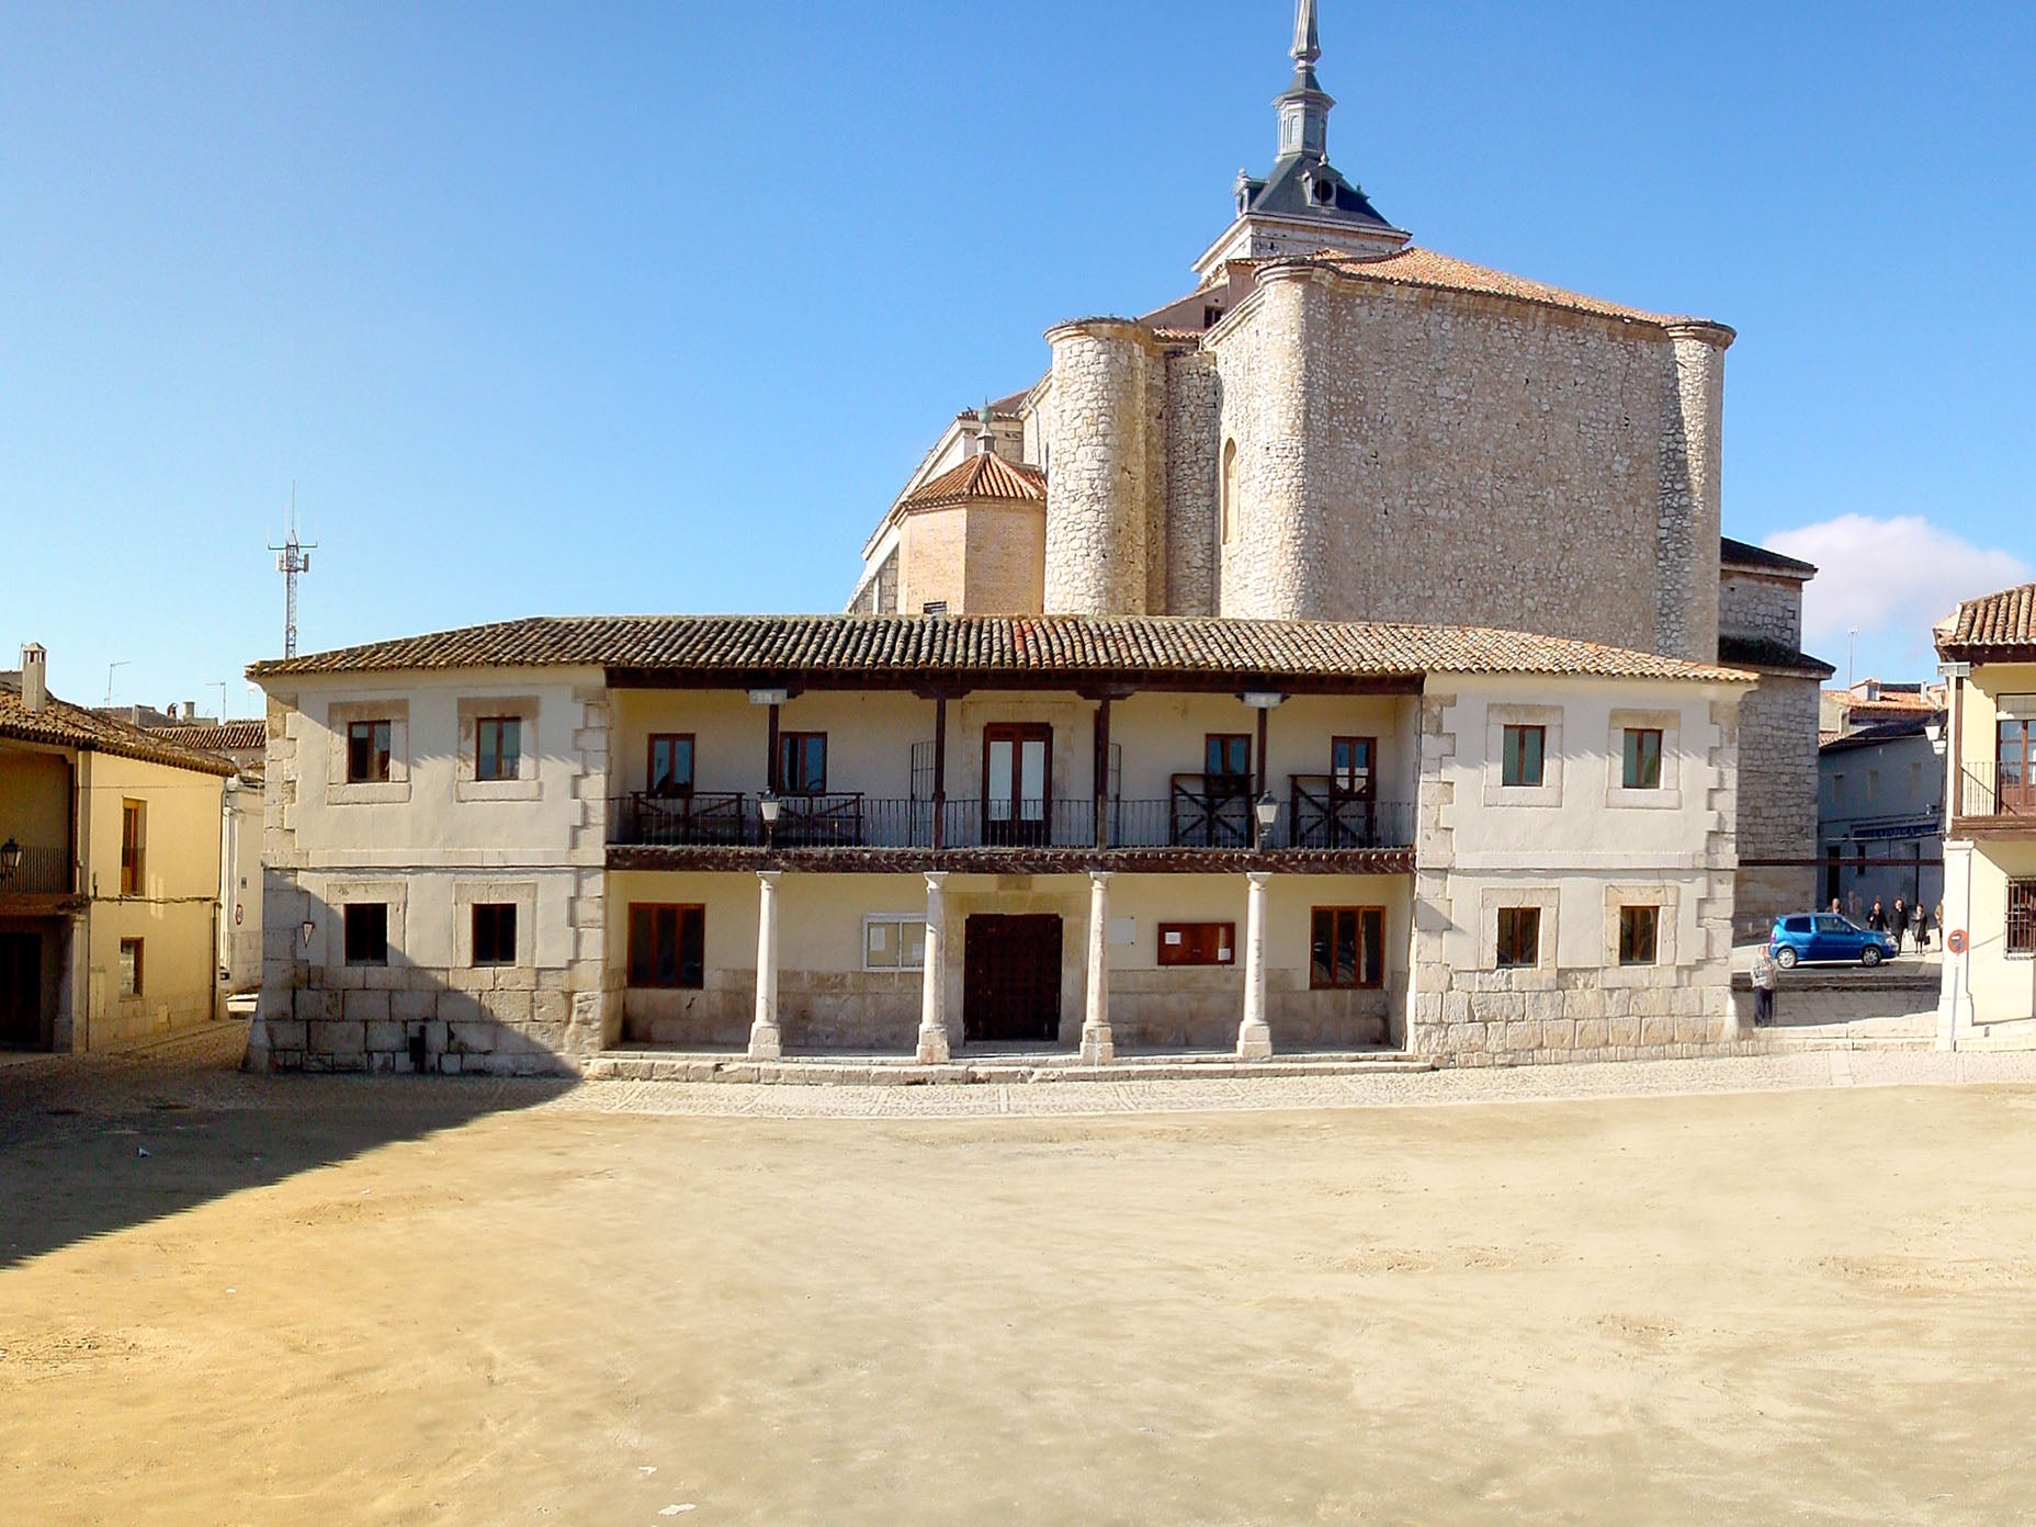
[[0, 1519], [2030, 1519], [2036, 1089], [1395, 1085], [0, 1069]]

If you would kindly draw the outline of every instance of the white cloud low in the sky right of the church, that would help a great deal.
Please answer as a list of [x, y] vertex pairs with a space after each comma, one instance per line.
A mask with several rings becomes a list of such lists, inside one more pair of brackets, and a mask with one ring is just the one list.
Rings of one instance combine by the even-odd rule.
[[2030, 580], [2022, 558], [1973, 546], [1922, 515], [1839, 515], [1779, 529], [1763, 546], [1816, 564], [1802, 601], [1804, 645], [1812, 652], [1836, 652], [1849, 631], [1859, 631], [1863, 645], [1926, 654], [1930, 627], [1961, 599]]

